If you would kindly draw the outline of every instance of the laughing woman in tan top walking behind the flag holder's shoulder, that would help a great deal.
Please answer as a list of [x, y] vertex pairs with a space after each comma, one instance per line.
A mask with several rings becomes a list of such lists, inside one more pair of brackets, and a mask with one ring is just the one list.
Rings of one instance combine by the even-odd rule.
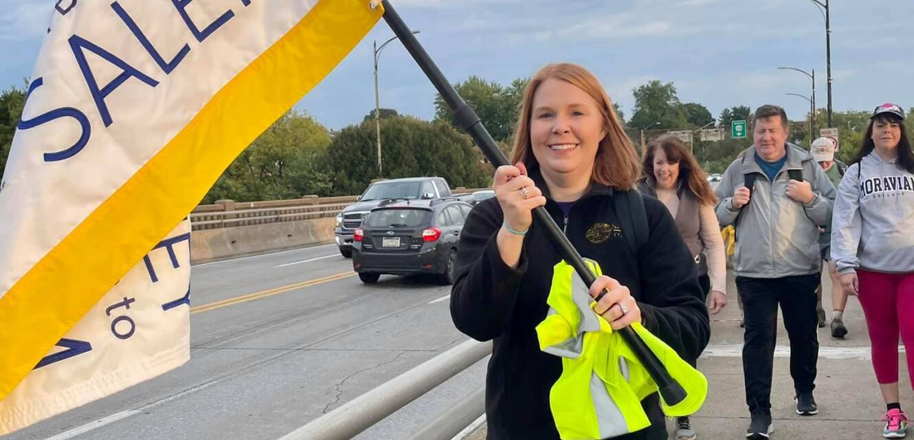
[[[727, 255], [714, 207], [717, 197], [682, 141], [664, 135], [644, 153], [643, 176], [638, 189], [664, 202], [675, 219], [683, 241], [695, 259], [698, 281], [714, 315], [727, 305]], [[689, 360], [694, 366], [696, 360]], [[676, 440], [694, 440], [688, 417], [676, 419]]]

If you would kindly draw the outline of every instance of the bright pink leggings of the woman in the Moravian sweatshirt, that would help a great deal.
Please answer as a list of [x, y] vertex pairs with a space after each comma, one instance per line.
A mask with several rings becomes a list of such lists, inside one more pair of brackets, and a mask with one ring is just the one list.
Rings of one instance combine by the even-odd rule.
[[880, 274], [857, 269], [860, 306], [879, 383], [898, 381], [898, 333], [905, 343], [908, 375], [914, 383], [914, 274]]

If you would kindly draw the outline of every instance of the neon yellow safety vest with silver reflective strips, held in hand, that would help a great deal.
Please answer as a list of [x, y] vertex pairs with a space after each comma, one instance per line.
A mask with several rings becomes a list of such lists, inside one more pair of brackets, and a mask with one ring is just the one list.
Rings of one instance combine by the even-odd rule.
[[[600, 265], [587, 261], [600, 276]], [[553, 269], [546, 319], [537, 326], [539, 347], [562, 358], [562, 374], [549, 392], [549, 406], [564, 440], [599, 440], [640, 431], [651, 422], [641, 401], [657, 392], [632, 349], [597, 315], [596, 305], [574, 269], [564, 261]], [[674, 349], [632, 324], [670, 375], [683, 386], [683, 402], [661, 407], [668, 416], [696, 413], [707, 397], [707, 380]]]

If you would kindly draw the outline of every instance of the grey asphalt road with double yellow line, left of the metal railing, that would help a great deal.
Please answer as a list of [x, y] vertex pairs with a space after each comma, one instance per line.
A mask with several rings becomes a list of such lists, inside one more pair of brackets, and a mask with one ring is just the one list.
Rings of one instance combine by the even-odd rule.
[[[197, 265], [191, 292], [186, 365], [4, 440], [274, 440], [465, 339], [450, 286], [362, 284], [335, 245]], [[409, 436], [482, 387], [484, 362], [357, 438]]]

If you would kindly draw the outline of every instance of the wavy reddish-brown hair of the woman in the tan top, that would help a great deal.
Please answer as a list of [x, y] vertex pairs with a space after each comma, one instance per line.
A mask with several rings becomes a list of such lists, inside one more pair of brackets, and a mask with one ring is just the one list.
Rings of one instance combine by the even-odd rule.
[[664, 134], [651, 141], [647, 145], [647, 151], [644, 152], [643, 179], [648, 185], [657, 187], [657, 179], [654, 177], [654, 156], [658, 148], [664, 150], [666, 160], [679, 164], [679, 185], [687, 188], [698, 199], [698, 203], [711, 206], [717, 204], [717, 196], [711, 189], [711, 185], [707, 183], [705, 170], [701, 169], [695, 156], [692, 156], [692, 153], [685, 148], [683, 141], [669, 134]]

